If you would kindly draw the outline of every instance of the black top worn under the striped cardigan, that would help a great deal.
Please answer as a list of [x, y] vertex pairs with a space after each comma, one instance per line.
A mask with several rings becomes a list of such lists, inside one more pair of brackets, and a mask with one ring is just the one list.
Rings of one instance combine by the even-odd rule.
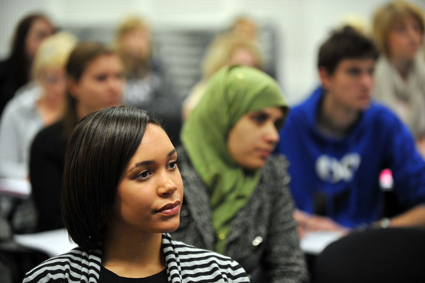
[[100, 283], [167, 283], [167, 269], [143, 278], [128, 278], [116, 275], [111, 270], [106, 269], [104, 266], [100, 267], [99, 275]]

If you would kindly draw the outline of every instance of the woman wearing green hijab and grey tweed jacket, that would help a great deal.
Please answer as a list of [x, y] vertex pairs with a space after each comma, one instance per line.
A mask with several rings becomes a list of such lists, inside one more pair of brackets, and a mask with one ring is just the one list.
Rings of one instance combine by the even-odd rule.
[[269, 157], [286, 112], [277, 83], [262, 71], [227, 66], [212, 77], [181, 131], [185, 192], [173, 237], [231, 256], [270, 282], [304, 282], [289, 164]]

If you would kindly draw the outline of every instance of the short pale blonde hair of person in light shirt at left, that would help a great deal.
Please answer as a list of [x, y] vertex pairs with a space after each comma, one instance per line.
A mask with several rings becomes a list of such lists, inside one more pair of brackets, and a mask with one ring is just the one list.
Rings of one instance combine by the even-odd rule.
[[47, 67], [65, 68], [69, 54], [77, 45], [77, 37], [61, 31], [45, 39], [37, 50], [32, 64], [34, 78], [39, 78]]

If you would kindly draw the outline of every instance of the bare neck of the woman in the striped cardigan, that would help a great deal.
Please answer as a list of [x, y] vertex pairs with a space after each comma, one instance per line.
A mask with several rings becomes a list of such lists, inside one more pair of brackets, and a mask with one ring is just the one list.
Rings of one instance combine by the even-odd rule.
[[116, 275], [142, 278], [165, 268], [162, 234], [109, 227], [102, 243], [102, 265]]

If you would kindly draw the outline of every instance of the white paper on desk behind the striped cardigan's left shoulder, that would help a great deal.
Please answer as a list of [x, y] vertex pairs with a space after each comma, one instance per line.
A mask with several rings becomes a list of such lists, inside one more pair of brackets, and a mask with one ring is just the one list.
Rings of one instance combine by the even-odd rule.
[[65, 229], [14, 235], [13, 238], [22, 246], [45, 252], [50, 257], [62, 255], [77, 246], [68, 240], [68, 232]]

